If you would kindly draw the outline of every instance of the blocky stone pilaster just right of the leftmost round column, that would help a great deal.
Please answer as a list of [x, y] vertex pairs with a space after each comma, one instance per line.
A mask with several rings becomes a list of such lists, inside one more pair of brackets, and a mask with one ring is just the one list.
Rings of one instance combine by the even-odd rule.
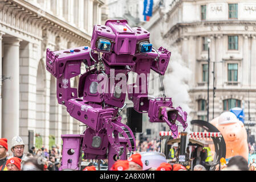
[[36, 56], [38, 53], [38, 44], [25, 41], [21, 42], [19, 49], [19, 136], [26, 144], [25, 152], [29, 150], [29, 141], [27, 140], [29, 130], [33, 130], [35, 134], [36, 127], [36, 75], [38, 66]]

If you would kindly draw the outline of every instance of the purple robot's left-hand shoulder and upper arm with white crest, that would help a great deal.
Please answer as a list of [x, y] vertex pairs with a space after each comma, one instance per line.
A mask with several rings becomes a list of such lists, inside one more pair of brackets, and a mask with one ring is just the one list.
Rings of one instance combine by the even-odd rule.
[[46, 69], [57, 78], [57, 98], [59, 104], [67, 106], [71, 98], [78, 98], [76, 88], [71, 88], [70, 78], [80, 75], [81, 63], [91, 67], [97, 63], [97, 54], [89, 47], [78, 47], [62, 51], [46, 52]]

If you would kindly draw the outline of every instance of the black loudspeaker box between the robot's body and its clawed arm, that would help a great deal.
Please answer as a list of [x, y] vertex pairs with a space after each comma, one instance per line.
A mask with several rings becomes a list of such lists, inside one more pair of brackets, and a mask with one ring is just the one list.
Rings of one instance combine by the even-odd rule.
[[138, 113], [133, 107], [127, 107], [127, 126], [133, 133], [142, 133], [142, 113]]

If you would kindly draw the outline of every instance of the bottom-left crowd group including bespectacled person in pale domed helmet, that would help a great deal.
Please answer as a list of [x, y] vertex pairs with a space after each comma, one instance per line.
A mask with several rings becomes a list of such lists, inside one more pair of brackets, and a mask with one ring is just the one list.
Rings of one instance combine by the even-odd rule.
[[6, 138], [0, 139], [0, 171], [58, 171], [61, 162], [59, 146], [51, 150], [32, 147], [25, 154], [25, 143], [21, 137], [11, 140], [11, 153], [8, 152]]

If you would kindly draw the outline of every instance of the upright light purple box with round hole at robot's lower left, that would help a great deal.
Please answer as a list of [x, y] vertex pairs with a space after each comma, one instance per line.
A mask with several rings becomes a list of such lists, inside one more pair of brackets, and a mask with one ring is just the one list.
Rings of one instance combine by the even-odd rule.
[[78, 162], [80, 157], [80, 146], [83, 135], [62, 135], [62, 162], [60, 171], [63, 169], [78, 170]]

